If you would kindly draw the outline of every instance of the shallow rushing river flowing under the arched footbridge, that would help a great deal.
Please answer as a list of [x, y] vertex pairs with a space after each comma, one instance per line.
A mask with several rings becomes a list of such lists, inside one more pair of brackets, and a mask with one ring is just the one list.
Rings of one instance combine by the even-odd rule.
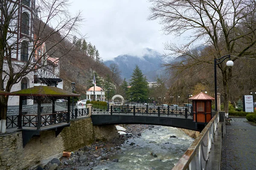
[[[123, 153], [111, 157], [119, 162], [105, 161], [93, 170], [171, 170], [194, 141], [175, 127], [154, 126], [141, 135], [128, 139], [122, 144]], [[135, 144], [131, 146], [131, 142]], [[152, 152], [157, 157], [151, 156]]]

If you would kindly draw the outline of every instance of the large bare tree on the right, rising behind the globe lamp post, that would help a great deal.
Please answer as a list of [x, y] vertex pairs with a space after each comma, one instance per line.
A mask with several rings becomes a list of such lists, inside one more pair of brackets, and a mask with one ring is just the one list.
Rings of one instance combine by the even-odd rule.
[[[166, 63], [170, 70], [182, 72], [193, 65], [210, 64], [213, 59], [230, 54], [235, 61], [241, 57], [255, 58], [254, 0], [150, 0], [150, 20], [160, 20], [165, 34], [177, 37], [188, 34], [188, 43], [166, 43], [171, 52], [166, 56], [183, 57], [177, 65]], [[194, 53], [195, 42], [203, 41], [208, 48], [202, 54]], [[236, 63], [235, 63], [236, 64]], [[232, 68], [222, 62], [217, 65], [222, 76], [224, 110], [228, 112]], [[220, 76], [221, 75], [221, 76]]]

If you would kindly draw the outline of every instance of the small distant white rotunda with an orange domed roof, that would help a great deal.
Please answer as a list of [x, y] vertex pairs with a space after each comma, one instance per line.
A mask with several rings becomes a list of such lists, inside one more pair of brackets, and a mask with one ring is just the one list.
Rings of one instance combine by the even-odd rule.
[[[92, 98], [94, 95], [95, 97]], [[86, 99], [105, 101], [105, 91], [103, 91], [99, 86], [93, 86], [86, 91]]]

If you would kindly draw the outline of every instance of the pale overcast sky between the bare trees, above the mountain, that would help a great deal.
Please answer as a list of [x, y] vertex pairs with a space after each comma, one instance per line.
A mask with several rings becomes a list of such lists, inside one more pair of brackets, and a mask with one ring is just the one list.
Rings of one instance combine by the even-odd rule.
[[163, 53], [163, 43], [172, 37], [163, 35], [156, 20], [147, 20], [149, 6], [147, 0], [73, 0], [70, 11], [82, 11], [81, 33], [107, 60], [121, 54], [140, 55], [143, 48]]

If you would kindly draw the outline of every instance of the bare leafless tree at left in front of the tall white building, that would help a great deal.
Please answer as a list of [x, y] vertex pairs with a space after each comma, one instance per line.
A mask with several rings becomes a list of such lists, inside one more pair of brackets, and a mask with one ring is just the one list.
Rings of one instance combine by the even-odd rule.
[[[23, 77], [45, 68], [48, 57], [58, 60], [73, 52], [66, 44], [79, 34], [80, 13], [68, 12], [68, 0], [34, 1], [0, 1], [0, 90], [10, 92]], [[44, 44], [46, 51], [36, 52]], [[6, 131], [8, 99], [0, 96], [1, 133]]]

